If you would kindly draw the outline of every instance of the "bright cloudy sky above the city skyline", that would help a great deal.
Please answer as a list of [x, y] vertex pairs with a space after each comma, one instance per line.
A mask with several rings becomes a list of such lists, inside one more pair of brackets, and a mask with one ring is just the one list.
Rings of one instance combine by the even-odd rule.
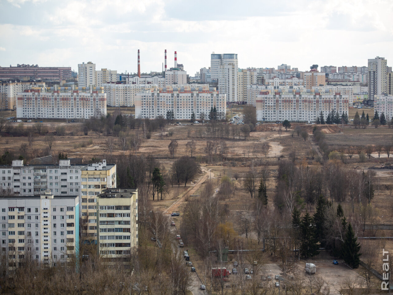
[[0, 66], [92, 61], [118, 73], [161, 71], [173, 53], [194, 76], [210, 54], [239, 67], [393, 65], [391, 0], [0, 0]]

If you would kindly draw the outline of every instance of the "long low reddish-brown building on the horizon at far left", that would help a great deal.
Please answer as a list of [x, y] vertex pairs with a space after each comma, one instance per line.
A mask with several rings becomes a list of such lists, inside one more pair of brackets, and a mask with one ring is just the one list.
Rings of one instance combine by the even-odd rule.
[[68, 80], [71, 79], [71, 67], [43, 67], [38, 65], [0, 67], [0, 79]]

